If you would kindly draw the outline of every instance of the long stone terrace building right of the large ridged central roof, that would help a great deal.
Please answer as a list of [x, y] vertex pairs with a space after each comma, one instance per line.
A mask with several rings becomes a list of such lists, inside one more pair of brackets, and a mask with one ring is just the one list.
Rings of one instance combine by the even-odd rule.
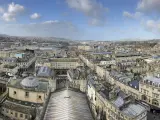
[[99, 120], [147, 120], [147, 109], [119, 88], [90, 80], [88, 99]]

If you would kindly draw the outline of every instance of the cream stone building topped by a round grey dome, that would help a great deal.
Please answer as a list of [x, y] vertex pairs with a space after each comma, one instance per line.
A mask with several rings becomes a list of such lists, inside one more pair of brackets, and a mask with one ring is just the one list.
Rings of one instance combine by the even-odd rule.
[[2, 103], [1, 112], [16, 120], [32, 120], [48, 96], [48, 82], [35, 77], [12, 79], [7, 85], [8, 97]]

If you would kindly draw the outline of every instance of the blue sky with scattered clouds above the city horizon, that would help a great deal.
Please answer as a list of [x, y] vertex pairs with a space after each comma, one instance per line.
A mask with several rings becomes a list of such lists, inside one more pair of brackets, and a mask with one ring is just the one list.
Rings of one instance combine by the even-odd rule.
[[158, 39], [160, 0], [0, 0], [0, 34]]

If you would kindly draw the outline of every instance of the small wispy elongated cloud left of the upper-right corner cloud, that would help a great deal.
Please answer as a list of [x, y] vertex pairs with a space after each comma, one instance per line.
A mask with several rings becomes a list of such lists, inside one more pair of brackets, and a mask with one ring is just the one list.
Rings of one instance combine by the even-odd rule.
[[124, 11], [123, 16], [130, 19], [139, 19], [142, 17], [142, 13], [141, 12], [130, 13], [130, 12]]

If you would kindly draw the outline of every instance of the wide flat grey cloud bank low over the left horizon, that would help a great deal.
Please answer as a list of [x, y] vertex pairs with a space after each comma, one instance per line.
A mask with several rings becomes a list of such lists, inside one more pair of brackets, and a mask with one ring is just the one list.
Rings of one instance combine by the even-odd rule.
[[80, 38], [81, 31], [70, 22], [58, 20], [30, 24], [1, 25], [0, 33], [21, 36]]

